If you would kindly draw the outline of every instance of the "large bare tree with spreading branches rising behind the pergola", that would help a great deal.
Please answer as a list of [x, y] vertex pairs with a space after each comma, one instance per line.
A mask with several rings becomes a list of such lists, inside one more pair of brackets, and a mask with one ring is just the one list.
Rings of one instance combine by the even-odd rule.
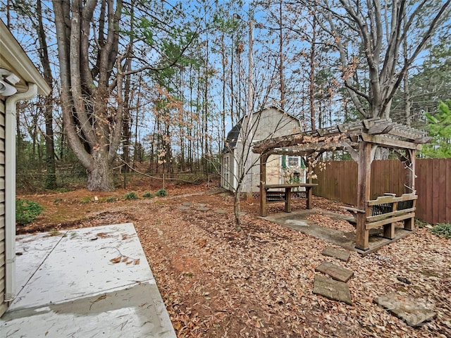
[[[307, 1], [321, 17], [318, 23], [338, 51], [342, 80], [365, 118], [389, 117], [393, 96], [405, 73], [435, 30], [450, 18], [450, 4], [451, 0]], [[400, 49], [406, 40], [414, 44], [403, 57]], [[352, 75], [360, 67], [359, 52], [369, 70], [367, 90], [353, 81]]]

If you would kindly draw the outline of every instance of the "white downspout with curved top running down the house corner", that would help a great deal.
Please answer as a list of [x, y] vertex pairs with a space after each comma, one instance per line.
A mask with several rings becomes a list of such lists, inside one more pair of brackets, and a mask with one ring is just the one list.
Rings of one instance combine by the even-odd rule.
[[16, 298], [16, 104], [37, 95], [37, 84], [29, 83], [25, 93], [6, 98], [5, 142], [5, 300]]

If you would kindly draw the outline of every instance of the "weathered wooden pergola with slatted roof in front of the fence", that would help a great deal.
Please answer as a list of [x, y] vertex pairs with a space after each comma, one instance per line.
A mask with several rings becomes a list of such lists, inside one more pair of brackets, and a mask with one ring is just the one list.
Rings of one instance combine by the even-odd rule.
[[[415, 153], [428, 142], [427, 132], [393, 123], [390, 119], [371, 118], [327, 127], [285, 137], [266, 139], [254, 144], [252, 151], [260, 154], [260, 180], [266, 182], [266, 161], [273, 154], [307, 156], [309, 172], [316, 158], [326, 151], [347, 150], [358, 163], [357, 209], [365, 211], [370, 199], [371, 162], [378, 148], [393, 149], [404, 164], [405, 192], [415, 193]], [[381, 150], [380, 149], [380, 150]], [[366, 215], [358, 215], [356, 228], [357, 249], [368, 249], [369, 230]], [[409, 229], [410, 227], [410, 229]], [[414, 225], [406, 227], [413, 230]]]

